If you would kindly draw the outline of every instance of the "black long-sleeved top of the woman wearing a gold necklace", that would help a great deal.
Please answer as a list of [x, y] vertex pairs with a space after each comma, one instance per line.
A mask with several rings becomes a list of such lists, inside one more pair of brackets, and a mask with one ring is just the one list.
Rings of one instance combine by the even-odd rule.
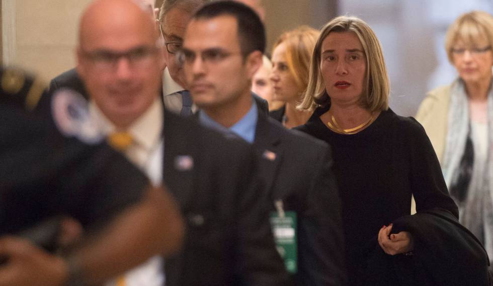
[[389, 109], [365, 130], [344, 135], [331, 131], [320, 120], [327, 110], [318, 108], [297, 129], [333, 148], [348, 273], [354, 273], [365, 244], [383, 225], [409, 215], [412, 195], [418, 212], [438, 207], [458, 217], [430, 140], [414, 118], [397, 116]]

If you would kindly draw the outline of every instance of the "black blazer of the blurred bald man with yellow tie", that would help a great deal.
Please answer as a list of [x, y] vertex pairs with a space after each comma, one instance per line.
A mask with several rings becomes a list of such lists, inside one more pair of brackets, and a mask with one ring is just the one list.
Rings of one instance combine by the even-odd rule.
[[165, 112], [163, 181], [186, 220], [168, 286], [285, 285], [252, 147]]

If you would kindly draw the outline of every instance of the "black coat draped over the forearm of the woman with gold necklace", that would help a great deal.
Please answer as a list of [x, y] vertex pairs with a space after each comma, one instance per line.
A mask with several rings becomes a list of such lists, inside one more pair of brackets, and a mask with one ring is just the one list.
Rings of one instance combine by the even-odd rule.
[[402, 266], [425, 269], [416, 271], [415, 279], [426, 275], [434, 285], [489, 285], [486, 251], [449, 212], [436, 208], [393, 223], [392, 233], [413, 233], [413, 263]]

